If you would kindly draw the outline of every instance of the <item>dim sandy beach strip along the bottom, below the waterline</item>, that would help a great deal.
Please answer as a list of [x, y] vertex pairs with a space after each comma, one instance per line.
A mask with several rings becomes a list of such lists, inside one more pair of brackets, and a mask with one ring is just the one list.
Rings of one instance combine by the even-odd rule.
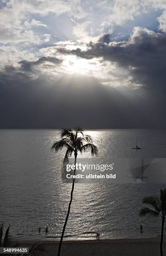
[[[28, 243], [31, 243], [28, 241]], [[27, 243], [27, 244], [28, 244]], [[42, 256], [55, 256], [59, 241], [43, 241], [47, 252]], [[166, 238], [163, 254], [166, 253]], [[160, 238], [110, 239], [64, 241], [61, 256], [160, 256]]]

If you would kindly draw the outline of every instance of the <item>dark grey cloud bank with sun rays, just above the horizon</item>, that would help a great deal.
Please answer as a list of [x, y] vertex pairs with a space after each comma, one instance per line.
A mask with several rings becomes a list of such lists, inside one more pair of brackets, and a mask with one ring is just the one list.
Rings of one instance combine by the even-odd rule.
[[165, 101], [143, 89], [103, 86], [94, 77], [0, 73], [0, 128], [163, 127]]

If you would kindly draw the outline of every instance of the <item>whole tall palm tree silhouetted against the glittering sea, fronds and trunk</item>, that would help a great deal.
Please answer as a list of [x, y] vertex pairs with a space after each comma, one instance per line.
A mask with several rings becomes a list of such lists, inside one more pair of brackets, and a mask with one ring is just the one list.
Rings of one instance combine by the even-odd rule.
[[[85, 135], [84, 130], [80, 127], [75, 129], [70, 129], [70, 128], [62, 129], [60, 131], [60, 136], [62, 139], [60, 141], [56, 141], [55, 143], [53, 143], [51, 149], [58, 151], [62, 148], [66, 148], [67, 150], [65, 152], [65, 158], [64, 158], [65, 161], [66, 160], [68, 161], [68, 157], [74, 154], [74, 164], [76, 165], [78, 152], [82, 154], [83, 152], [87, 152], [91, 150], [92, 156], [98, 154], [98, 148], [92, 144], [93, 140], [91, 136]], [[73, 175], [75, 175], [75, 169], [74, 169]], [[65, 223], [63, 225], [63, 230], [62, 230], [59, 248], [58, 248], [58, 256], [60, 256], [60, 249], [63, 241], [63, 236], [65, 233], [65, 228], [66, 228], [66, 224], [68, 222], [68, 216], [70, 213], [70, 207], [73, 200], [74, 184], [75, 184], [75, 179], [73, 179], [70, 202], [68, 205], [68, 212], [66, 215]]]

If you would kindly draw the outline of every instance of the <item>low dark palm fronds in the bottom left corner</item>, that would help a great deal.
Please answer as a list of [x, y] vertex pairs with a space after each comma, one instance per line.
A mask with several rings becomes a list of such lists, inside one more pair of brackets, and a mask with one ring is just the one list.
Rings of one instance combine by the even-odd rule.
[[[16, 243], [16, 239], [13, 238], [11, 235], [10, 235], [10, 226], [8, 226], [8, 228], [6, 229], [6, 231], [4, 232], [3, 231], [4, 229], [4, 225], [3, 223], [1, 224], [0, 226], [0, 247], [15, 247], [17, 248], [18, 246], [20, 246], [19, 243]], [[41, 252], [46, 252], [46, 247], [44, 244], [42, 243], [34, 243], [32, 244], [31, 246], [28, 246], [27, 245], [23, 245], [21, 244], [21, 247], [29, 247], [29, 253], [17, 253], [15, 254], [15, 256], [23, 256], [23, 255], [30, 255], [30, 256], [39, 256]], [[2, 255], [5, 255], [5, 254], [2, 254]], [[13, 256], [13, 254], [9, 253], [8, 254], [9, 256]]]

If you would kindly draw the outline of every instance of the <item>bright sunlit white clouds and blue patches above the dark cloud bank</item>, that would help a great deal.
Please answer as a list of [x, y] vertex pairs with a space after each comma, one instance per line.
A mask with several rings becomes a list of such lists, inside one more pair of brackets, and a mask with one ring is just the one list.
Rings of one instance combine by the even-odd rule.
[[[21, 67], [21, 71], [28, 72], [33, 77], [37, 77], [38, 73], [39, 76], [43, 73], [50, 74], [51, 78], [61, 74], [64, 76], [80, 74], [95, 77], [105, 86], [140, 87], [143, 83], [139, 82], [137, 77], [133, 79], [136, 71], [133, 70], [132, 63], [128, 68], [121, 59], [118, 59], [120, 48], [111, 55], [109, 61], [106, 54], [105, 58], [102, 56], [102, 49], [97, 49], [99, 55], [94, 54], [96, 58], [93, 59], [81, 59], [76, 54], [60, 54], [57, 49], [63, 47], [66, 51], [77, 49], [87, 51], [88, 48], [91, 49], [91, 44], [95, 45], [99, 39], [103, 43], [114, 43], [117, 46], [117, 42], [129, 41], [130, 37], [132, 47], [132, 44], [136, 43], [132, 42], [132, 38], [142, 36], [139, 30], [149, 36], [153, 29], [166, 31], [165, 0], [156, 0], [155, 4], [153, 0], [148, 0], [148, 5], [143, 0], [139, 1], [139, 5], [138, 0], [132, 3], [127, 0], [113, 2], [97, 0], [95, 5], [93, 1], [84, 1], [84, 3], [80, 0], [66, 0], [65, 3], [63, 0], [47, 2], [24, 0], [24, 4], [23, 1], [17, 0], [2, 2], [3, 4], [0, 4], [2, 23], [0, 68], [5, 69], [8, 64], [18, 67], [20, 61], [24, 63], [29, 61], [31, 64], [24, 65], [29, 69]], [[150, 21], [154, 28], [150, 26]], [[138, 29], [139, 26], [148, 26], [148, 28]], [[125, 48], [127, 47], [124, 45]], [[126, 59], [131, 53], [133, 51], [129, 51]], [[47, 57], [47, 60], [38, 61], [43, 57]], [[61, 62], [53, 63], [49, 61], [50, 57], [58, 58]], [[117, 61], [113, 60], [115, 57]], [[133, 56], [133, 59], [137, 58]]]

